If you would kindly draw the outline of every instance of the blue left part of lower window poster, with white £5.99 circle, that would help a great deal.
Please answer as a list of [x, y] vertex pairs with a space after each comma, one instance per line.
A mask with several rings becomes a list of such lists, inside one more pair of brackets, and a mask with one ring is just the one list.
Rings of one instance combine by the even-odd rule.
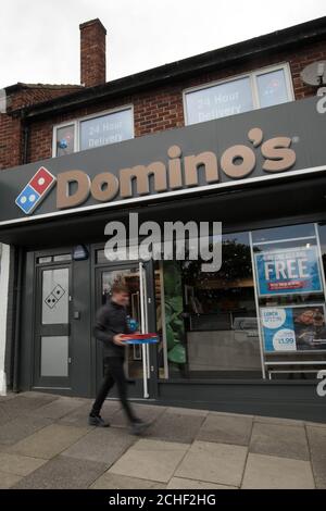
[[291, 308], [261, 309], [265, 351], [296, 351]]

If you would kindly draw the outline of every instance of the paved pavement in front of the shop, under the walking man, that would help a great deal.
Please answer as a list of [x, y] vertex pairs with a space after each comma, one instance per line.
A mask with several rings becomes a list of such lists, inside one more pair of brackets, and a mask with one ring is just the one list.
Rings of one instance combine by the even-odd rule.
[[0, 488], [326, 488], [326, 424], [146, 403], [135, 437], [113, 400], [88, 426], [90, 403], [0, 397]]

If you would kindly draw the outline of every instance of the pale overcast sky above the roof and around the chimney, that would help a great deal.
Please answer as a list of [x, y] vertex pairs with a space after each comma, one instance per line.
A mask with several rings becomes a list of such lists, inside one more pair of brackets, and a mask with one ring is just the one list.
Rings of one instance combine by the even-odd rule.
[[79, 23], [95, 17], [111, 80], [324, 15], [325, 0], [0, 0], [0, 88], [79, 84]]

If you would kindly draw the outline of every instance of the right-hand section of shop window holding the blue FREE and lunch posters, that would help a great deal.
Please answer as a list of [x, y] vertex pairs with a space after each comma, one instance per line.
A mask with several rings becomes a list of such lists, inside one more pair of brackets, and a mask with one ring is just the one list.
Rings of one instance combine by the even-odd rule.
[[264, 369], [314, 378], [326, 363], [324, 269], [314, 224], [252, 234]]

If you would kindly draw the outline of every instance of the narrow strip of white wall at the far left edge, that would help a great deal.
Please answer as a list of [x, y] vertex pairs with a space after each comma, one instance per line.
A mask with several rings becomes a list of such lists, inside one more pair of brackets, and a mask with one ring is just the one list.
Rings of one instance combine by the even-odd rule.
[[7, 308], [10, 269], [10, 247], [0, 245], [0, 396], [7, 394], [4, 353], [7, 336]]

